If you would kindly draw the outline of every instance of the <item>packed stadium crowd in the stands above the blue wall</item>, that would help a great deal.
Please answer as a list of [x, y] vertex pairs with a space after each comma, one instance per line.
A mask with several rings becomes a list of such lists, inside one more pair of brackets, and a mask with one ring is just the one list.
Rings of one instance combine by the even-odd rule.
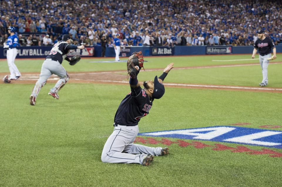
[[14, 26], [21, 46], [53, 45], [63, 34], [85, 46], [252, 45], [264, 29], [282, 43], [281, 1], [136, 0], [0, 2], [0, 46]]

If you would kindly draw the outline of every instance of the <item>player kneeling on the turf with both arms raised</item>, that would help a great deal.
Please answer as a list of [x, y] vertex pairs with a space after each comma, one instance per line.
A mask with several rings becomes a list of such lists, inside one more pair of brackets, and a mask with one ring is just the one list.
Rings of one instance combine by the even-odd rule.
[[168, 147], [147, 147], [133, 143], [139, 132], [138, 122], [149, 114], [153, 100], [160, 99], [164, 95], [162, 82], [173, 68], [173, 63], [169, 64], [159, 78], [156, 76], [154, 81], [145, 81], [142, 89], [138, 83], [137, 74], [143, 67], [143, 62], [142, 52], [133, 53], [127, 61], [131, 92], [122, 100], [117, 109], [114, 131], [104, 145], [101, 155], [102, 162], [138, 163], [148, 166], [154, 156], [169, 153]]

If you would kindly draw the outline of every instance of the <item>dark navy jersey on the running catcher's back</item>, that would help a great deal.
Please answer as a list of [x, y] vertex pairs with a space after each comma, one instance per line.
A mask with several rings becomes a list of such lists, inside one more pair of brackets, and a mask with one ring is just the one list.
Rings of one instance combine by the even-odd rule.
[[57, 42], [53, 45], [53, 48], [51, 49], [49, 55], [46, 57], [46, 59], [53, 59], [55, 61], [59, 61], [60, 64], [62, 64], [63, 60], [66, 58], [68, 54], [68, 49], [66, 47], [69, 44], [67, 42]]

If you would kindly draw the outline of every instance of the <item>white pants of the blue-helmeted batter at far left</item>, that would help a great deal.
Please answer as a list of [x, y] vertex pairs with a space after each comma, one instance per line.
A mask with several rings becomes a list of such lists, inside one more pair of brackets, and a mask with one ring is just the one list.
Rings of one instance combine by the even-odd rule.
[[17, 56], [17, 49], [12, 48], [7, 50], [7, 62], [10, 70], [10, 79], [15, 79], [16, 76], [21, 76], [21, 73], [19, 72], [16, 64], [15, 64], [15, 59]]

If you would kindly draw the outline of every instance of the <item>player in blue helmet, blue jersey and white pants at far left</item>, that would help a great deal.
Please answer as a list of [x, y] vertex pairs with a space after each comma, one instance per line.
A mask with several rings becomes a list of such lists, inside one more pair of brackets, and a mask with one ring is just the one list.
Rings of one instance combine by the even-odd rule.
[[19, 72], [15, 62], [16, 56], [17, 56], [17, 49], [16, 47], [19, 47], [19, 38], [15, 34], [16, 28], [9, 27], [8, 32], [10, 36], [8, 37], [8, 40], [6, 44], [4, 45], [4, 48], [7, 48], [7, 62], [10, 70], [10, 77], [6, 75], [3, 78], [4, 83], [11, 83], [11, 80], [17, 80], [20, 78], [21, 73]]

